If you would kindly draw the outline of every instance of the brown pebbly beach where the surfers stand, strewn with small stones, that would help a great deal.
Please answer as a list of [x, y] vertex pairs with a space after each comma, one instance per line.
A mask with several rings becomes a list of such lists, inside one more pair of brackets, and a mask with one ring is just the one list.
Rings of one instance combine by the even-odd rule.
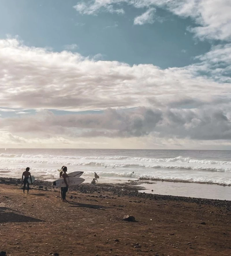
[[36, 181], [29, 194], [7, 182], [0, 184], [0, 251], [7, 255], [231, 254], [230, 201], [82, 184], [64, 203], [48, 182]]

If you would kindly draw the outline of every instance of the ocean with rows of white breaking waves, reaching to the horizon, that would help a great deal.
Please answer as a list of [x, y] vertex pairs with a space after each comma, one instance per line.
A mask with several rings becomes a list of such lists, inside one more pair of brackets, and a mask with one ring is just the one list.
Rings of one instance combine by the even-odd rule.
[[[30, 167], [36, 178], [52, 181], [59, 178], [57, 169], [62, 165], [68, 167], [68, 172], [83, 171], [85, 182], [90, 182], [96, 172], [100, 183], [123, 183], [146, 177], [231, 184], [229, 150], [0, 149], [1, 177], [21, 178], [25, 168]], [[174, 183], [174, 186], [185, 185]], [[211, 186], [212, 190], [222, 189]], [[221, 194], [227, 191], [230, 194], [230, 190], [227, 187]]]

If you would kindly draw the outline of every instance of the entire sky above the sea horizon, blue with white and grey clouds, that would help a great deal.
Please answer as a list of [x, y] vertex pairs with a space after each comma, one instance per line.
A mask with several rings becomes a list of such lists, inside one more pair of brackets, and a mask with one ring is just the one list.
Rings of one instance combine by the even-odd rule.
[[231, 150], [230, 0], [1, 0], [0, 148]]

